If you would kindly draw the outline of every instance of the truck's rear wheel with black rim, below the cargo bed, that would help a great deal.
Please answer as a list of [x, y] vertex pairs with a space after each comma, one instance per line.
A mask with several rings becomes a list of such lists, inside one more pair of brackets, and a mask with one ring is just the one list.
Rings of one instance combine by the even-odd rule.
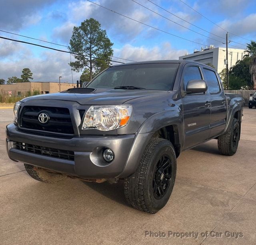
[[239, 140], [240, 125], [238, 120], [234, 118], [230, 130], [218, 136], [218, 149], [223, 155], [232, 156], [236, 153]]

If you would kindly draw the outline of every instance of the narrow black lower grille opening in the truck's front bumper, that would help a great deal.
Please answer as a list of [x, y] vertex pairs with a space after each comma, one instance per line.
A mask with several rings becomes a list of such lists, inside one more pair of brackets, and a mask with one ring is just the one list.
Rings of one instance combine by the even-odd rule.
[[12, 142], [12, 148], [31, 152], [38, 155], [74, 161], [74, 152], [71, 150], [59, 150], [55, 148], [37, 146], [34, 144], [27, 144], [22, 142]]

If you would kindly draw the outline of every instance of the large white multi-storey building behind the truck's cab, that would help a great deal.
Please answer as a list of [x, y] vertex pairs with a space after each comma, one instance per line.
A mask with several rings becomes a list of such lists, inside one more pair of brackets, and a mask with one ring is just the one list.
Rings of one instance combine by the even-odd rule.
[[[244, 49], [228, 49], [228, 68], [235, 65], [236, 61], [243, 59], [243, 56], [246, 54], [244, 51]], [[211, 45], [210, 48], [201, 49], [201, 51], [194, 50], [194, 53], [180, 56], [179, 59], [193, 60], [203, 64], [212, 63], [218, 73], [220, 73], [226, 68], [224, 63], [226, 59], [226, 48]]]

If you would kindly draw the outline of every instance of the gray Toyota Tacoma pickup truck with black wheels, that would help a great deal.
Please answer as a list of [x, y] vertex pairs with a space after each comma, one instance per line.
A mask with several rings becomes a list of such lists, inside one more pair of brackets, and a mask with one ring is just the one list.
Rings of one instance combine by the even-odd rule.
[[156, 213], [170, 198], [180, 153], [217, 139], [220, 152], [233, 155], [242, 118], [242, 97], [225, 94], [207, 65], [127, 63], [84, 88], [16, 103], [6, 148], [42, 182], [122, 179], [127, 202]]

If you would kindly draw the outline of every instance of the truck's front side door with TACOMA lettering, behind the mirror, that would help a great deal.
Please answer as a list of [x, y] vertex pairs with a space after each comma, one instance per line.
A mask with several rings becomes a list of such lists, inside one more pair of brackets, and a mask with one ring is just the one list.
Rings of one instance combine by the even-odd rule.
[[181, 77], [181, 94], [184, 120], [184, 149], [206, 141], [210, 134], [211, 104], [208, 93], [186, 93], [190, 80], [201, 80], [202, 71], [196, 64], [186, 65]]

